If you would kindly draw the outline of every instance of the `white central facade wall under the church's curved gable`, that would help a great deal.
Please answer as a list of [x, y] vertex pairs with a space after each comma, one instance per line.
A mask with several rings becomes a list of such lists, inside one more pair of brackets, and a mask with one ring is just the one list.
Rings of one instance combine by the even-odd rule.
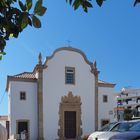
[[[75, 67], [75, 85], [65, 84], [65, 67]], [[72, 51], [59, 51], [48, 60], [43, 71], [43, 112], [45, 140], [58, 138], [59, 103], [72, 91], [81, 97], [83, 134], [94, 131], [95, 77], [84, 57]]]

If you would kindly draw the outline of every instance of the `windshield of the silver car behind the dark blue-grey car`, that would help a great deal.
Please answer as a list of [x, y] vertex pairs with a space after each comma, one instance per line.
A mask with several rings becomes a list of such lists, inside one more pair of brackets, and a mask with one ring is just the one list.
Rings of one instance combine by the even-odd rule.
[[111, 129], [111, 131], [124, 132], [129, 131], [136, 122], [121, 122]]

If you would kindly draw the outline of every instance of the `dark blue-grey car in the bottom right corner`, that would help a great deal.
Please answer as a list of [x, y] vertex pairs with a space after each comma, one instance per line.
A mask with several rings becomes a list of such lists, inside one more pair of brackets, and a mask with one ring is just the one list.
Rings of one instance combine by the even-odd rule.
[[140, 140], [140, 122], [131, 127], [128, 132], [114, 135], [109, 140]]

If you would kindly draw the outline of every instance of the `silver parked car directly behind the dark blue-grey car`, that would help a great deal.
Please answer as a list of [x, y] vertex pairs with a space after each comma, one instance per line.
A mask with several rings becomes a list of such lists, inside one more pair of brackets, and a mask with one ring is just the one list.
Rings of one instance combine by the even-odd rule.
[[92, 133], [88, 140], [108, 140], [110, 137], [112, 137], [115, 134], [119, 134], [120, 132], [129, 131], [129, 129], [138, 122], [138, 120], [132, 120], [132, 121], [122, 121], [114, 124], [112, 128], [109, 131], [101, 131], [100, 132], [94, 132]]

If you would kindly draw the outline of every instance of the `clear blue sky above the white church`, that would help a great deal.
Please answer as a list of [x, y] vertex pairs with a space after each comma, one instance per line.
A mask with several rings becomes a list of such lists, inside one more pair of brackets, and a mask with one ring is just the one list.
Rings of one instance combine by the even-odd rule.
[[116, 83], [116, 91], [140, 88], [140, 5], [133, 7], [133, 0], [106, 0], [99, 8], [93, 2], [86, 14], [73, 11], [65, 0], [44, 2], [48, 10], [41, 18], [42, 28], [28, 27], [18, 39], [7, 42], [7, 54], [0, 61], [0, 115], [8, 113], [7, 75], [32, 71], [39, 52], [44, 59], [67, 46], [68, 40], [90, 61], [97, 61], [99, 79]]

